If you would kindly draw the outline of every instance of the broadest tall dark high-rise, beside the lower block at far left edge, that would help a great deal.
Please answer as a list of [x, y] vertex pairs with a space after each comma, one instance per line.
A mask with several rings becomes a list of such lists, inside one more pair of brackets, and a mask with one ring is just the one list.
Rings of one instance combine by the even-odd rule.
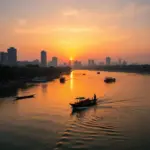
[[17, 49], [10, 47], [8, 50], [8, 64], [10, 66], [17, 65]]

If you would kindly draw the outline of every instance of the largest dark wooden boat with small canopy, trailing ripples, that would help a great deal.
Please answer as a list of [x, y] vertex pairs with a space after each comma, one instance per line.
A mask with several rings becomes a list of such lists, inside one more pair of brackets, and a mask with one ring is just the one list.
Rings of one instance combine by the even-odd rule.
[[73, 110], [82, 110], [97, 104], [97, 99], [89, 99], [84, 97], [76, 98], [77, 102], [70, 104]]

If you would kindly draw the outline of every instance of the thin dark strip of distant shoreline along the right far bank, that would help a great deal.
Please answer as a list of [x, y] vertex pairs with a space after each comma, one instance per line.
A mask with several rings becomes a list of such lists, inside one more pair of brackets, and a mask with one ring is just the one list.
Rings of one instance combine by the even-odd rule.
[[139, 73], [150, 74], [150, 65], [115, 65], [115, 66], [91, 66], [83, 67], [82, 69], [108, 71], [108, 72], [126, 72], [126, 73]]

